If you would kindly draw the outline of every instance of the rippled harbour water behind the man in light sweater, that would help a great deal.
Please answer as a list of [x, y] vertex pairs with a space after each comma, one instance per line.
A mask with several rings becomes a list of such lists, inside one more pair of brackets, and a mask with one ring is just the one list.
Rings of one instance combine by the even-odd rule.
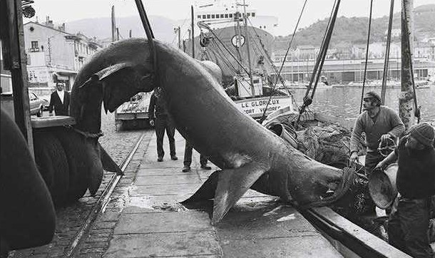
[[[375, 91], [380, 95], [380, 88], [366, 87], [364, 92]], [[297, 105], [302, 105], [306, 90], [293, 89]], [[340, 120], [354, 121], [359, 114], [361, 87], [319, 88], [316, 90], [310, 110], [324, 113]], [[400, 88], [387, 88], [385, 104], [399, 112]], [[421, 105], [421, 121], [435, 123], [435, 87], [416, 90], [418, 105]]]

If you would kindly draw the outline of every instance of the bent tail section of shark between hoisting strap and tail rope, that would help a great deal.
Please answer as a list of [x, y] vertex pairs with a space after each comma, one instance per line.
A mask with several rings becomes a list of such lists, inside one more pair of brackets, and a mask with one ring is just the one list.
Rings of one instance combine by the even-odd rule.
[[143, 38], [118, 41], [96, 53], [79, 71], [71, 91], [70, 115], [76, 118], [76, 128], [99, 133], [102, 104], [113, 112], [136, 93], [153, 91], [154, 71]]

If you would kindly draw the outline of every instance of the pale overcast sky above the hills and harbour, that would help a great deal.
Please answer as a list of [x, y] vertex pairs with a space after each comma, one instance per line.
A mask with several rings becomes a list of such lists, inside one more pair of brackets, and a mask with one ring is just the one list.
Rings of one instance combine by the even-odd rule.
[[[79, 19], [108, 17], [111, 6], [116, 9], [116, 16], [137, 16], [138, 11], [133, 0], [34, 0], [34, 9], [39, 21], [50, 16], [54, 24]], [[148, 16], [158, 15], [173, 20], [190, 19], [190, 6], [195, 3], [213, 2], [193, 0], [143, 0]], [[258, 15], [276, 16], [278, 27], [275, 36], [287, 36], [293, 32], [305, 0], [245, 0], [246, 4], [257, 10]], [[243, 0], [239, 0], [240, 3]], [[394, 11], [400, 11], [401, 0], [394, 1]], [[332, 11], [334, 0], [307, 0], [300, 28], [309, 26], [319, 19], [324, 19]], [[435, 0], [414, 0], [414, 6], [435, 4]], [[373, 18], [389, 14], [389, 0], [373, 1]], [[369, 16], [370, 0], [342, 0], [339, 16]], [[31, 19], [34, 21], [36, 16]], [[29, 21], [25, 19], [24, 22]], [[188, 24], [188, 22], [186, 23]]]

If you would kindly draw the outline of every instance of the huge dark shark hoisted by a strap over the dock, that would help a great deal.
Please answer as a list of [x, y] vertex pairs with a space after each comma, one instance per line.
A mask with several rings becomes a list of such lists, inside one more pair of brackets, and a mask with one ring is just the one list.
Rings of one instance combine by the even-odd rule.
[[250, 188], [302, 207], [327, 205], [346, 192], [350, 175], [312, 160], [241, 113], [210, 66], [154, 43], [155, 56], [143, 38], [118, 41], [83, 66], [71, 95], [80, 130], [99, 132], [102, 102], [113, 112], [138, 92], [163, 88], [177, 130], [220, 167], [184, 202], [213, 199], [213, 224]]

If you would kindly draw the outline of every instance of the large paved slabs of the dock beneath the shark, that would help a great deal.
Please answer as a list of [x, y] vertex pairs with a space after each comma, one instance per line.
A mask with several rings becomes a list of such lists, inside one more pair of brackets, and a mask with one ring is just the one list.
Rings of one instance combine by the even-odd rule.
[[[218, 167], [182, 172], [184, 139], [176, 133], [178, 160], [157, 162], [155, 134], [139, 146], [80, 257], [341, 257], [295, 208], [249, 190], [222, 222], [210, 224], [211, 206], [188, 210], [187, 199]], [[121, 197], [119, 197], [121, 196]], [[103, 238], [103, 239], [101, 239]], [[101, 242], [101, 247], [95, 245]], [[107, 241], [105, 240], [107, 239]], [[93, 241], [94, 240], [94, 241]], [[98, 255], [97, 255], [98, 254]]]

